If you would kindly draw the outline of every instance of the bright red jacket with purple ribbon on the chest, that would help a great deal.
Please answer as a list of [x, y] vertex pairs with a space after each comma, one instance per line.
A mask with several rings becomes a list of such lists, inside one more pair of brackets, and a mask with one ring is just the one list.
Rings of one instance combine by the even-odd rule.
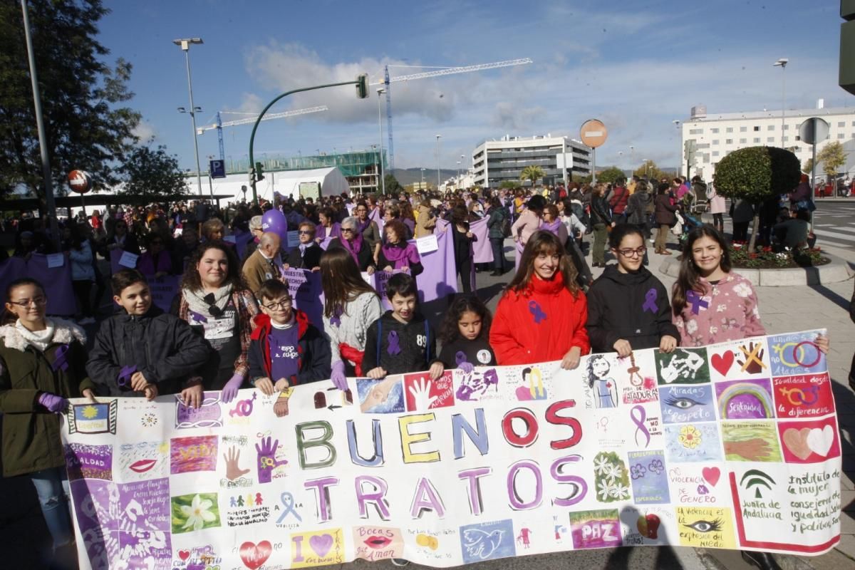
[[561, 360], [574, 346], [587, 355], [586, 323], [585, 293], [573, 297], [561, 273], [551, 281], [535, 275], [528, 290], [507, 291], [498, 302], [490, 345], [500, 366]]

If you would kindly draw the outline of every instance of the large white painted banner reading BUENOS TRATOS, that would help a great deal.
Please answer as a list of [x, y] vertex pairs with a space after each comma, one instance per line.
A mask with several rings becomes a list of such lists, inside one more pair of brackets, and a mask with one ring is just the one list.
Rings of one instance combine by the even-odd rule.
[[74, 401], [82, 568], [433, 567], [620, 545], [820, 554], [840, 438], [817, 331], [629, 358]]

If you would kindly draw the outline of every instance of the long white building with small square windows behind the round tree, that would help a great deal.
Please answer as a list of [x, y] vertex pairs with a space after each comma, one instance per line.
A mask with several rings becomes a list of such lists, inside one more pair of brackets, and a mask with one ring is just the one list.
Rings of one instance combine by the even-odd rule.
[[[681, 125], [681, 161], [680, 171], [686, 173], [686, 143], [694, 141], [696, 145], [691, 172], [702, 178], [711, 179], [716, 164], [733, 150], [749, 146], [777, 146], [792, 150], [804, 167], [811, 158], [813, 145], [801, 142], [799, 126], [811, 117], [819, 117], [828, 122], [828, 138], [817, 144], [817, 153], [829, 142], [846, 144], [855, 138], [855, 109], [823, 109], [822, 100], [817, 109], [787, 109], [783, 115], [781, 129], [781, 109], [753, 111], [748, 113], [707, 114], [706, 107], [692, 108], [692, 116]], [[783, 135], [783, 139], [781, 139]]]

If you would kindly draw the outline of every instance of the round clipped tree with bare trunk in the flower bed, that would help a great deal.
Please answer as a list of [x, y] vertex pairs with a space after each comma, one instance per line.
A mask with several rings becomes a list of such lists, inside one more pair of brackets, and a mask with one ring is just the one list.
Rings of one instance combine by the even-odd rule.
[[786, 194], [799, 185], [801, 165], [789, 150], [751, 146], [734, 150], [716, 166], [716, 192], [731, 200], [741, 198], [754, 205], [754, 225], [749, 251], [754, 250], [759, 229], [759, 205], [770, 197]]

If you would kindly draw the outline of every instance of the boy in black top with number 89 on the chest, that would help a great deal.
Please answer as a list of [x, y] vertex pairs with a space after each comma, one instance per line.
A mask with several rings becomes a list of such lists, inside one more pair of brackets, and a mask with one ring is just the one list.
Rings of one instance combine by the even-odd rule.
[[392, 310], [375, 320], [365, 333], [363, 370], [369, 378], [429, 369], [431, 379], [445, 367], [436, 357], [436, 335], [428, 320], [416, 310], [416, 279], [395, 273], [386, 284]]

